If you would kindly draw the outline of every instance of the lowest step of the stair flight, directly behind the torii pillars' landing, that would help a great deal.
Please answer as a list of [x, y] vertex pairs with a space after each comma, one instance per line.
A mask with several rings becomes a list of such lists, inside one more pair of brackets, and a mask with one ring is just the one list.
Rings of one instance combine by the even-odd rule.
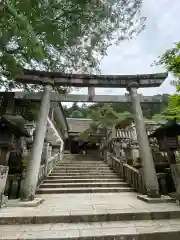
[[37, 194], [134, 192], [131, 187], [39, 188]]

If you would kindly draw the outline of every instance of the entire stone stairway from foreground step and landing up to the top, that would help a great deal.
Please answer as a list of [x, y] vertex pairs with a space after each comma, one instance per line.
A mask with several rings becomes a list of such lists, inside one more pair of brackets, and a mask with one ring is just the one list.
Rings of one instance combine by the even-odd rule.
[[179, 205], [138, 200], [101, 161], [64, 160], [37, 193], [38, 207], [0, 210], [0, 239], [180, 239]]

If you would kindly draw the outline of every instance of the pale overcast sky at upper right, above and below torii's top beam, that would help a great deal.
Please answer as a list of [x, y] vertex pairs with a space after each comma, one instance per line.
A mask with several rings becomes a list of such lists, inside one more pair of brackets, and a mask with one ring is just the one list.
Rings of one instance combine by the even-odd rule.
[[[142, 15], [146, 28], [140, 35], [108, 49], [101, 62], [103, 74], [136, 74], [164, 71], [151, 64], [180, 40], [180, 0], [144, 0]], [[140, 89], [144, 95], [173, 93], [169, 76], [160, 88]], [[87, 92], [82, 90], [81, 93]], [[96, 89], [98, 94], [124, 94], [124, 89]]]

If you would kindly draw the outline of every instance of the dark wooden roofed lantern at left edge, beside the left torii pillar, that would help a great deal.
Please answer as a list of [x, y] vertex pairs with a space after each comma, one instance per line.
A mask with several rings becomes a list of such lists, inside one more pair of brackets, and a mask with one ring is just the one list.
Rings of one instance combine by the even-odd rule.
[[7, 194], [9, 197], [13, 181], [18, 182], [19, 191], [22, 180], [24, 170], [23, 152], [24, 148], [26, 149], [24, 137], [30, 137], [24, 125], [25, 119], [21, 116], [4, 115], [0, 119], [0, 164], [8, 166], [9, 169], [8, 175], [6, 174], [8, 177]]

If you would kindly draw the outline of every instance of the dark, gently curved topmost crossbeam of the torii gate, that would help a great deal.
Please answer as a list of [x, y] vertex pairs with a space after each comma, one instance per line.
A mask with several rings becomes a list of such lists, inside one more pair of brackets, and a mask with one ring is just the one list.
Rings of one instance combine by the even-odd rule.
[[137, 75], [89, 75], [65, 74], [59, 72], [45, 72], [37, 70], [24, 70], [17, 76], [17, 82], [25, 84], [45, 85], [50, 81], [55, 86], [74, 87], [102, 87], [102, 88], [127, 88], [131, 82], [138, 83], [140, 88], [159, 87], [167, 73], [137, 74]]

